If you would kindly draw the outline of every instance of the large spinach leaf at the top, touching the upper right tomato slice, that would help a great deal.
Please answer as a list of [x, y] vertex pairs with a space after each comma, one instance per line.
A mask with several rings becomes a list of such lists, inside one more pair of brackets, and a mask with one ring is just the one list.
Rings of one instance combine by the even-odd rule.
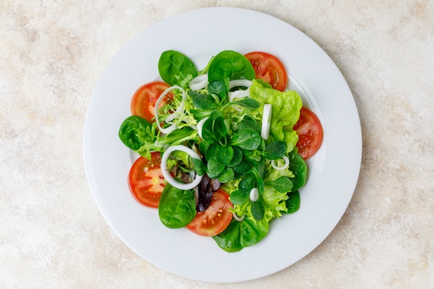
[[208, 69], [208, 80], [254, 79], [254, 69], [244, 55], [236, 51], [222, 51], [218, 53]]

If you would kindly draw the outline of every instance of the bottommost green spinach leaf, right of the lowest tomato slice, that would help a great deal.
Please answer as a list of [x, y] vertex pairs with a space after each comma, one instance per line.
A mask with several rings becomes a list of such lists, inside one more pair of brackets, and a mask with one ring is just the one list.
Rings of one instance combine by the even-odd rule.
[[254, 222], [244, 219], [232, 220], [225, 231], [214, 236], [218, 247], [226, 252], [238, 252], [245, 247], [259, 243], [268, 234], [268, 222]]

